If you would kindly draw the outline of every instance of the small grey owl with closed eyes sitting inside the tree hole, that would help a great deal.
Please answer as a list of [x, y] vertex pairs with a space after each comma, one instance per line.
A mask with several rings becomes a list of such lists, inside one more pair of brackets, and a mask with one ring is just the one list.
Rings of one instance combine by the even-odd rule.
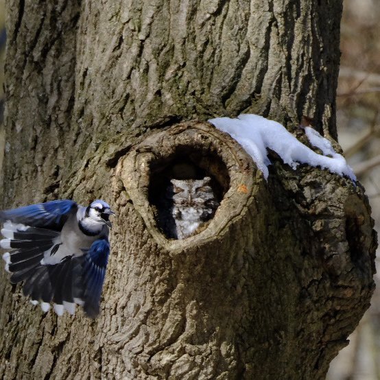
[[[177, 239], [185, 239], [199, 232], [205, 222], [211, 219], [219, 206], [210, 185], [211, 178], [202, 180], [170, 180], [168, 195], [172, 209], [169, 235]], [[198, 230], [198, 231], [197, 231]]]

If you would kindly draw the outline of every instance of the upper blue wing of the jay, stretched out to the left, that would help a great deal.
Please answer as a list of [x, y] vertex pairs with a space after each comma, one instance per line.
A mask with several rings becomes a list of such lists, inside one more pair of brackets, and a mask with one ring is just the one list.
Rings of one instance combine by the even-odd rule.
[[36, 228], [62, 230], [69, 213], [76, 212], [78, 204], [73, 200], [51, 200], [46, 203], [31, 204], [7, 211], [0, 211], [0, 222], [9, 220]]

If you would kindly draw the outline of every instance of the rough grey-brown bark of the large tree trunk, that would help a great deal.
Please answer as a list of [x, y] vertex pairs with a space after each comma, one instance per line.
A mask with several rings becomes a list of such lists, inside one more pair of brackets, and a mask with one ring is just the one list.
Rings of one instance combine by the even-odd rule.
[[[253, 112], [337, 138], [339, 0], [9, 0], [3, 207], [117, 211], [102, 312], [44, 315], [0, 283], [3, 379], [323, 379], [368, 308], [375, 233], [361, 185], [268, 182], [204, 121]], [[337, 146], [337, 144], [336, 144]], [[154, 219], [185, 154], [224, 199], [175, 241]], [[153, 194], [153, 195], [152, 195]]]

